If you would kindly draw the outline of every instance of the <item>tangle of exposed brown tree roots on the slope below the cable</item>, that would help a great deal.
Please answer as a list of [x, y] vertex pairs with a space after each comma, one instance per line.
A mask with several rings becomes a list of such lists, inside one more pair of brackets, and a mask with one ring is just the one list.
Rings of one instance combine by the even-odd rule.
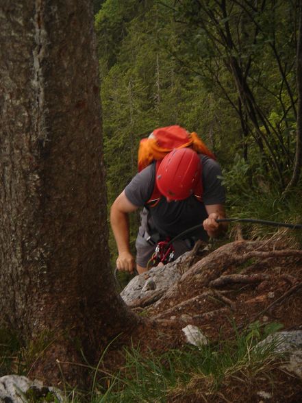
[[[193, 323], [198, 326], [205, 324], [207, 329], [209, 323], [225, 323], [226, 317], [239, 318], [237, 325], [238, 328], [242, 328], [244, 323], [246, 324], [246, 319], [249, 323], [257, 320], [275, 304], [301, 289], [301, 283], [297, 284], [297, 278], [283, 272], [284, 260], [281, 260], [288, 257], [301, 259], [300, 250], [281, 249], [281, 245], [268, 241], [236, 241], [219, 247], [191, 265], [197, 252], [198, 247], [180, 263], [181, 278], [173, 286], [165, 290], [155, 290], [147, 297], [134, 300], [130, 306], [132, 308], [148, 306], [151, 322], [157, 327], [166, 328], [167, 331], [170, 331], [168, 328], [184, 327]], [[249, 265], [250, 259], [252, 260]], [[276, 262], [277, 265], [280, 264], [277, 273], [274, 266]], [[233, 269], [238, 271], [240, 265], [247, 263], [248, 267], [244, 267], [240, 274], [231, 273]], [[270, 267], [272, 264], [273, 267]], [[227, 270], [229, 273], [224, 274]], [[291, 288], [263, 309], [271, 298], [266, 290], [274, 282], [285, 283], [284, 286], [290, 284]], [[244, 291], [238, 287], [243, 284]], [[236, 286], [236, 289], [227, 290], [229, 286]], [[261, 291], [259, 287], [262, 287]], [[241, 293], [245, 293], [243, 300], [240, 297]], [[261, 312], [255, 315], [255, 310], [260, 309]], [[247, 316], [249, 312], [253, 315]]]

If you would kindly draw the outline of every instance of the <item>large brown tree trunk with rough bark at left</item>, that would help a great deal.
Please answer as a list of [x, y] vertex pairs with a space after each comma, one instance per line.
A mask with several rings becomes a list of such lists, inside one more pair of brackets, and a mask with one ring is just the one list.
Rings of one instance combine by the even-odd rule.
[[0, 21], [0, 322], [55, 334], [49, 364], [73, 337], [90, 358], [138, 322], [108, 263], [92, 2], [3, 0]]

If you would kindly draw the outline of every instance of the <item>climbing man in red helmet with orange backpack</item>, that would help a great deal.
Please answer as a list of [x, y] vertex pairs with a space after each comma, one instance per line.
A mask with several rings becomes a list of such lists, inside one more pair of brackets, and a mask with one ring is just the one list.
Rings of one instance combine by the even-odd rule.
[[[140, 142], [138, 169], [110, 210], [118, 270], [132, 272], [136, 267], [143, 273], [150, 262], [156, 265], [155, 251], [170, 240], [169, 260], [174, 260], [198, 239], [207, 242], [226, 232], [227, 223], [216, 222], [225, 218], [221, 168], [196, 133], [178, 125], [154, 130]], [[142, 211], [135, 259], [129, 247], [129, 213], [138, 208]]]

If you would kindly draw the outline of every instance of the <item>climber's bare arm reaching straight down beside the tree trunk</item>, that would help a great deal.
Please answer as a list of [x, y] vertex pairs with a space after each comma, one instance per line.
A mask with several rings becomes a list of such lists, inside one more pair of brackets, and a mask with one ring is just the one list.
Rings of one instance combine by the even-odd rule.
[[118, 248], [118, 258], [116, 267], [118, 270], [134, 271], [135, 260], [129, 247], [129, 212], [138, 209], [125, 195], [125, 191], [119, 195], [110, 209], [110, 223], [116, 245]]

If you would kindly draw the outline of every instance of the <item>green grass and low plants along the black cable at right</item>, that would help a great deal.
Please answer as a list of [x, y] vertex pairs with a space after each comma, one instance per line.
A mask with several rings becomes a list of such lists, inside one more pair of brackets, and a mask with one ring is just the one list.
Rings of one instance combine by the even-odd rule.
[[[261, 173], [247, 174], [247, 167], [238, 160], [233, 169], [225, 171], [223, 184], [227, 190], [228, 217], [266, 219], [284, 223], [302, 223], [302, 178], [299, 185], [285, 196], [273, 180]], [[233, 228], [234, 224], [230, 225]], [[268, 238], [277, 227], [260, 224], [240, 224], [244, 239]], [[302, 244], [302, 230], [279, 228], [284, 239]]]

